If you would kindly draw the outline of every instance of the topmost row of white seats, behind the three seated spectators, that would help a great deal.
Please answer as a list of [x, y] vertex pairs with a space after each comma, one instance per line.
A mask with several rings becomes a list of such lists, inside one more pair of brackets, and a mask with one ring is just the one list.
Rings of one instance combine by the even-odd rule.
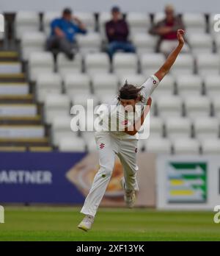
[[[86, 24], [90, 31], [99, 30], [100, 33], [105, 37], [104, 25], [106, 21], [111, 19], [111, 13], [104, 12], [99, 13], [98, 22], [94, 13], [83, 13], [75, 12], [78, 18]], [[18, 12], [15, 15], [15, 32], [16, 38], [21, 39], [23, 32], [38, 31], [40, 26], [43, 27], [43, 31], [46, 35], [50, 32], [50, 24], [54, 18], [59, 18], [60, 12], [47, 12], [43, 14], [43, 22], [40, 24], [40, 15], [37, 12]], [[215, 21], [215, 14], [210, 14], [208, 24], [206, 24], [206, 17], [202, 13], [183, 13], [183, 22], [186, 25], [188, 32], [206, 32], [207, 28], [210, 32], [213, 32], [213, 25]], [[164, 18], [164, 13], [155, 13], [153, 15], [153, 23], [156, 23]], [[140, 13], [127, 13], [126, 20], [131, 29], [131, 34], [135, 32], [147, 32], [152, 22], [150, 15], [144, 12]]]

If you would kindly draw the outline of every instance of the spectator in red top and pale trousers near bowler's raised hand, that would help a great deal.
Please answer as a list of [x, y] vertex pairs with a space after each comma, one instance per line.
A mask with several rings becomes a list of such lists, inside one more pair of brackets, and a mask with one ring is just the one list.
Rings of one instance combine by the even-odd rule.
[[[151, 35], [160, 36], [158, 42], [158, 51], [168, 55], [170, 51], [175, 49], [177, 45], [177, 29], [185, 29], [182, 19], [175, 15], [175, 10], [172, 5], [166, 5], [163, 21], [159, 21], [150, 29]], [[185, 43], [182, 51], [188, 51], [188, 46]]]

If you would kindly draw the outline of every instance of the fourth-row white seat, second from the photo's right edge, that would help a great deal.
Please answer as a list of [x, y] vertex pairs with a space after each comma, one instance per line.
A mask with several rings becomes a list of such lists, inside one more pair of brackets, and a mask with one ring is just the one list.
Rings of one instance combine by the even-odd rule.
[[201, 95], [202, 78], [198, 75], [180, 75], [176, 78], [177, 93], [180, 96]]

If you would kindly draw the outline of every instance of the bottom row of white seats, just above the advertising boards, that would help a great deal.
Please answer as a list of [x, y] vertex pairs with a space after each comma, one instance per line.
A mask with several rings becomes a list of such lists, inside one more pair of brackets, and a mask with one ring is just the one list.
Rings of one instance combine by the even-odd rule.
[[[84, 137], [73, 135], [60, 138], [58, 147], [65, 152], [84, 152], [96, 150], [95, 138], [88, 141]], [[150, 137], [147, 140], [139, 141], [139, 150], [156, 154], [219, 154], [220, 139], [204, 138], [202, 141], [197, 138], [169, 138]]]

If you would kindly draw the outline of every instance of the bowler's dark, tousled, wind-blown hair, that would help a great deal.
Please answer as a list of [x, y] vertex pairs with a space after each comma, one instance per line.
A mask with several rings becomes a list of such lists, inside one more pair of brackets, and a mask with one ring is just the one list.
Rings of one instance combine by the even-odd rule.
[[134, 99], [136, 100], [140, 97], [140, 101], [144, 101], [144, 96], [141, 95], [140, 91], [143, 87], [136, 87], [135, 85], [128, 84], [127, 80], [125, 81], [125, 85], [122, 86], [119, 90], [119, 94], [117, 99]]

